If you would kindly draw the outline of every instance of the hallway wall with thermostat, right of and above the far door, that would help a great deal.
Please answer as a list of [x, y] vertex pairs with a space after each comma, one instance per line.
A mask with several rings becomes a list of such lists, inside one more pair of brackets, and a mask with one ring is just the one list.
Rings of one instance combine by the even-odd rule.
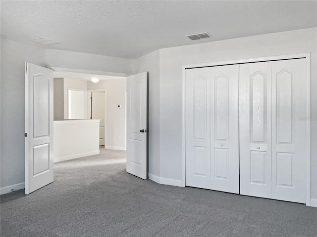
[[[106, 89], [106, 148], [124, 150], [124, 90], [126, 79], [88, 81], [87, 89]], [[118, 105], [121, 105], [118, 108]]]

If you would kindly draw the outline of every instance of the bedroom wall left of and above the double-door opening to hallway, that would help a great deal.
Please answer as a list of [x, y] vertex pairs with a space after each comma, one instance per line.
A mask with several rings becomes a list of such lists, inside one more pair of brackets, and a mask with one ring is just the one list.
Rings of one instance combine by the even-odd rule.
[[0, 188], [24, 183], [24, 62], [63, 67], [132, 73], [131, 59], [34, 47], [1, 38]]

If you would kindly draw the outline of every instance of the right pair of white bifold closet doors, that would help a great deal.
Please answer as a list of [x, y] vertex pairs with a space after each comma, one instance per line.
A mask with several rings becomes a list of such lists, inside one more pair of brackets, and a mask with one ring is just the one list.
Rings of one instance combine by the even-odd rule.
[[240, 65], [240, 194], [305, 203], [305, 59]]

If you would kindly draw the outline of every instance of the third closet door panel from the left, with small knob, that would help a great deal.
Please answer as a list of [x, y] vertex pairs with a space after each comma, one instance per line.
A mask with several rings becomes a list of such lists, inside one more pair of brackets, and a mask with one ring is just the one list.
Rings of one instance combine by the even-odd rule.
[[240, 65], [240, 194], [271, 198], [271, 62]]

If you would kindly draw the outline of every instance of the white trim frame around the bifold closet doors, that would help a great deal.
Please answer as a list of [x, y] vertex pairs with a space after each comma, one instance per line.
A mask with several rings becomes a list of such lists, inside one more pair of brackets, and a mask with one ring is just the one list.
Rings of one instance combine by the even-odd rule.
[[286, 60], [286, 59], [306, 59], [306, 73], [308, 77], [307, 83], [307, 126], [306, 126], [306, 205], [311, 206], [311, 53], [299, 53], [299, 54], [290, 54], [290, 55], [279, 55], [279, 56], [268, 56], [268, 57], [259, 57], [259, 58], [248, 58], [248, 59], [238, 59], [238, 60], [229, 60], [229, 61], [219, 61], [211, 63], [199, 63], [199, 64], [189, 64], [182, 66], [182, 180], [181, 186], [185, 187], [186, 185], [186, 154], [185, 154], [185, 70], [191, 68], [202, 68], [202, 67], [212, 67], [212, 66], [223, 66], [223, 65], [232, 65], [232, 64], [243, 64], [243, 63], [255, 63], [255, 62], [264, 62], [264, 61], [277, 61], [277, 60]]

